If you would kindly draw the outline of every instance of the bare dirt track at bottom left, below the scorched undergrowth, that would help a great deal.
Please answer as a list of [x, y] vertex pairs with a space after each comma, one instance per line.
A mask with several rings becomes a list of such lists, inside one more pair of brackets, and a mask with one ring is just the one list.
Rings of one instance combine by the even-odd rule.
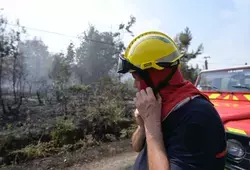
[[130, 170], [136, 156], [130, 140], [121, 140], [36, 159], [23, 165], [7, 166], [1, 170]]

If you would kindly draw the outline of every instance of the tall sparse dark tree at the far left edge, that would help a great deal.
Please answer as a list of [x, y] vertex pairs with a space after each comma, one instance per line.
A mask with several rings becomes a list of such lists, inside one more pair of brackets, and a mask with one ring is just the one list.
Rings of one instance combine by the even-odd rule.
[[[0, 103], [4, 115], [17, 114], [22, 104], [22, 95], [20, 95], [19, 101], [17, 100], [17, 82], [19, 82], [23, 76], [23, 60], [22, 55], [18, 49], [18, 43], [20, 42], [20, 34], [25, 30], [18, 25], [18, 30], [7, 29], [7, 19], [2, 15], [0, 16]], [[21, 29], [20, 29], [21, 28]], [[9, 79], [7, 78], [9, 77]], [[11, 77], [11, 78], [10, 78]], [[4, 101], [3, 98], [3, 81], [5, 85], [9, 85], [12, 82], [12, 92], [14, 96], [14, 102]], [[6, 107], [7, 105], [7, 107]]]

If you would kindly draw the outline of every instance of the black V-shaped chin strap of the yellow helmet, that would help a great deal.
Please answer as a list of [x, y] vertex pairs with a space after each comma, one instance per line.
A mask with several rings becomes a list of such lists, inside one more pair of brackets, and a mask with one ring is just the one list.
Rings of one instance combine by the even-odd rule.
[[151, 87], [153, 89], [153, 92], [156, 96], [160, 92], [161, 89], [170, 85], [169, 81], [173, 77], [174, 73], [177, 71], [178, 64], [171, 66], [170, 68], [172, 68], [171, 73], [163, 81], [161, 81], [156, 87], [155, 87], [153, 81], [151, 80], [151, 78], [149, 76], [149, 72], [147, 70], [141, 70], [138, 68], [135, 71], [145, 81], [147, 86]]

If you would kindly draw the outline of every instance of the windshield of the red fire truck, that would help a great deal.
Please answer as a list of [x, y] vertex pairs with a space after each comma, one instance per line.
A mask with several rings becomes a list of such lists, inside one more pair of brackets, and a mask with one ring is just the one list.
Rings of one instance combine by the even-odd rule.
[[203, 72], [196, 86], [206, 91], [249, 92], [250, 68]]

